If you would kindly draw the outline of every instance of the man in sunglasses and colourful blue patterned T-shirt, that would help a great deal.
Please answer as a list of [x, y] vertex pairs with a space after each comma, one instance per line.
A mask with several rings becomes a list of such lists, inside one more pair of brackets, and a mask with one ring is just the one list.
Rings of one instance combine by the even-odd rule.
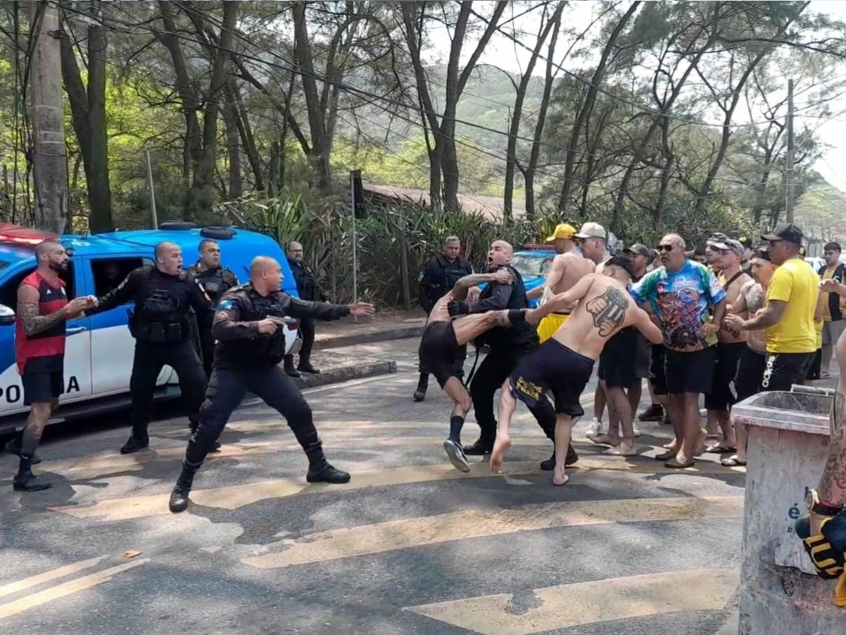
[[647, 273], [631, 290], [634, 299], [648, 304], [657, 316], [667, 349], [667, 406], [675, 439], [656, 459], [675, 468], [692, 466], [705, 443], [699, 395], [711, 390], [717, 330], [726, 305], [726, 293], [711, 269], [688, 260], [684, 246], [681, 236], [664, 236], [659, 247], [662, 267]]

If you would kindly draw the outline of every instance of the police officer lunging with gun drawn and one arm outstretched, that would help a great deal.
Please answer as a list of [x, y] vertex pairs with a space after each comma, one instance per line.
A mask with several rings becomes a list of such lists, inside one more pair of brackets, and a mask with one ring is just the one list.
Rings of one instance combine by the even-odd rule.
[[212, 332], [217, 340], [214, 369], [200, 411], [200, 426], [191, 435], [182, 473], [170, 496], [170, 511], [184, 511], [194, 475], [217, 441], [247, 390], [265, 400], [288, 421], [305, 450], [309, 483], [346, 483], [349, 474], [335, 469], [323, 456], [311, 409], [294, 383], [278, 366], [285, 354], [283, 317], [333, 320], [345, 315], [371, 315], [365, 302], [351, 305], [297, 300], [283, 293], [282, 268], [271, 257], [256, 257], [250, 282], [227, 291], [217, 306]]

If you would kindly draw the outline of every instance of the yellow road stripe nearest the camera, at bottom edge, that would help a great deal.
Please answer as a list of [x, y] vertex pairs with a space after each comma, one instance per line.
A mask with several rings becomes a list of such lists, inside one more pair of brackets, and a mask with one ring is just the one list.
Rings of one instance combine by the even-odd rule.
[[514, 605], [513, 594], [493, 594], [406, 610], [473, 632], [528, 635], [602, 621], [720, 610], [738, 583], [738, 572], [730, 569], [649, 573], [536, 588], [527, 607]]

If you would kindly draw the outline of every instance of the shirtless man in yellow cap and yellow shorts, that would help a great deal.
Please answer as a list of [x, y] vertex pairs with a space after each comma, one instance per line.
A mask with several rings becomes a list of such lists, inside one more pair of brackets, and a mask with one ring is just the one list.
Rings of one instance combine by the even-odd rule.
[[[594, 272], [594, 263], [582, 257], [576, 249], [573, 240], [575, 233], [576, 228], [562, 223], [555, 228], [552, 236], [547, 238], [547, 242], [552, 242], [555, 246], [558, 256], [552, 259], [552, 266], [549, 268], [544, 284], [537, 289], [533, 289], [530, 294], [541, 295], [541, 304], [545, 298], [570, 290], [580, 279], [588, 273]], [[561, 328], [572, 310], [573, 306], [568, 306], [562, 312], [550, 313], [541, 319], [541, 323], [537, 325], [537, 335], [541, 344], [549, 340]]]

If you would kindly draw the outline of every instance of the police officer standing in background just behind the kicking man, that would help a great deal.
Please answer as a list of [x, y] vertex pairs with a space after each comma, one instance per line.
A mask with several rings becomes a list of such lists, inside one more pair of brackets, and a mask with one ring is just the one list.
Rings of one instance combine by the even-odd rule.
[[[426, 267], [420, 272], [420, 306], [426, 312], [431, 312], [435, 302], [447, 295], [455, 283], [466, 275], [473, 273], [473, 266], [470, 262], [459, 256], [461, 242], [458, 236], [448, 236], [443, 241], [443, 252], [426, 262]], [[464, 359], [467, 357], [467, 347], [461, 346], [455, 356], [455, 369], [458, 377], [464, 377]], [[426, 398], [426, 389], [429, 388], [429, 370], [420, 363], [420, 379], [415, 390], [415, 401], [422, 401]]]

